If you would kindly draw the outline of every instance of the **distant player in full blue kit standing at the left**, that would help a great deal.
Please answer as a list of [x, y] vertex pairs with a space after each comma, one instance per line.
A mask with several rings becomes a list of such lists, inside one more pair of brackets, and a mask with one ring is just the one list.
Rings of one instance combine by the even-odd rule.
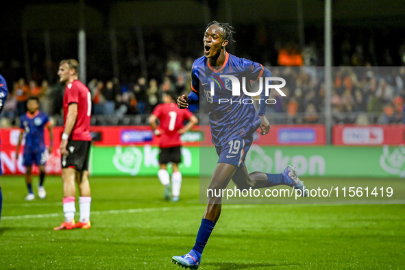
[[35, 199], [32, 191], [32, 164], [36, 164], [40, 171], [40, 182], [38, 185], [38, 197], [45, 199], [47, 192], [44, 187], [45, 163], [47, 162], [47, 153], [45, 147], [44, 131], [45, 127], [49, 130], [49, 154], [52, 152], [53, 132], [49, 116], [39, 110], [38, 97], [29, 97], [27, 101], [27, 113], [20, 117], [19, 143], [16, 149], [16, 160], [19, 160], [19, 150], [23, 135], [25, 134], [25, 146], [23, 154], [23, 165], [25, 166], [25, 184], [27, 184], [28, 194], [25, 200], [33, 201]]

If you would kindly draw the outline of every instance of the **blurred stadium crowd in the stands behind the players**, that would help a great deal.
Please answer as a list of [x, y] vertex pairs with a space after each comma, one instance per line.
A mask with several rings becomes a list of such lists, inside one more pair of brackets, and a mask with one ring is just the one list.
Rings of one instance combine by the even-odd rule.
[[[374, 43], [371, 36], [354, 39], [355, 35], [348, 32], [342, 36], [334, 44], [335, 66], [339, 66], [333, 69], [331, 105], [334, 122], [404, 123], [405, 41], [398, 44], [399, 49], [395, 53], [391, 47], [382, 48]], [[238, 47], [251, 52], [251, 55], [245, 55], [246, 58], [262, 62], [274, 76], [286, 79], [287, 86], [283, 90], [287, 97], [281, 98], [273, 91], [277, 103], [267, 110], [272, 123], [323, 123], [323, 69], [316, 67], [323, 65], [321, 40], [312, 38], [304, 48], [299, 48], [297, 42], [283, 38], [269, 42], [269, 39], [266, 27], [258, 27], [256, 47], [245, 49], [248, 44], [244, 42]], [[140, 75], [140, 72], [120, 78], [101, 73], [103, 75], [88, 82], [93, 99], [93, 116], [100, 120], [92, 120], [93, 124], [125, 125], [134, 123], [130, 119], [137, 116], [140, 118], [135, 124], [146, 125], [147, 116], [162, 102], [162, 93], [172, 90], [180, 95], [191, 90], [190, 71], [198, 55], [191, 56], [189, 53], [184, 56], [173, 47], [160, 55], [162, 51], [157, 53], [153, 49], [156, 44], [147, 47], [151, 48], [145, 51], [148, 77]], [[376, 53], [377, 50], [382, 53]], [[261, 53], [263, 51], [265, 53]], [[2, 112], [3, 126], [18, 125], [18, 116], [25, 112], [27, 98], [32, 95], [40, 98], [41, 110], [56, 119], [56, 125], [61, 123], [58, 119], [62, 108], [62, 85], [50, 83], [45, 76], [38, 74], [32, 77], [34, 79], [29, 82], [23, 77], [11, 82], [11, 93]], [[198, 108], [191, 110], [195, 112]], [[127, 121], [123, 121], [125, 117]], [[204, 124], [204, 121], [201, 123]]]

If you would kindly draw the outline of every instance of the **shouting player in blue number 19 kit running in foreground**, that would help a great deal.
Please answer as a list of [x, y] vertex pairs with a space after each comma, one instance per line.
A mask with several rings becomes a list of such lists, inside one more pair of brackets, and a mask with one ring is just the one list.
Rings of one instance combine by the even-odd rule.
[[[259, 80], [265, 82], [271, 77], [268, 69], [261, 64], [243, 58], [232, 56], [226, 51], [229, 43], [233, 42], [232, 27], [228, 23], [214, 21], [208, 24], [204, 34], [204, 56], [195, 60], [193, 64], [192, 91], [177, 99], [179, 108], [187, 108], [189, 104], [198, 103], [206, 99], [210, 118], [212, 143], [217, 149], [219, 160], [212, 174], [208, 188], [212, 191], [208, 196], [208, 204], [204, 212], [201, 226], [197, 233], [195, 245], [188, 254], [173, 256], [175, 264], [182, 267], [197, 269], [201, 262], [201, 254], [210, 237], [215, 223], [221, 214], [220, 194], [228, 186], [230, 180], [239, 190], [268, 188], [280, 184], [292, 186], [303, 197], [308, 195], [304, 183], [297, 177], [297, 172], [289, 166], [282, 173], [270, 174], [254, 172], [248, 173], [244, 161], [253, 140], [253, 134], [260, 127], [260, 134], [269, 133], [270, 125], [265, 117], [268, 99], [265, 86], [260, 94], [260, 107], [257, 113], [254, 105], [249, 101], [242, 83]], [[225, 75], [225, 76], [224, 76]], [[245, 77], [245, 79], [243, 79]], [[262, 79], [260, 79], [260, 77]], [[233, 88], [240, 84], [240, 93], [235, 95]], [[245, 89], [249, 86], [245, 86]]]

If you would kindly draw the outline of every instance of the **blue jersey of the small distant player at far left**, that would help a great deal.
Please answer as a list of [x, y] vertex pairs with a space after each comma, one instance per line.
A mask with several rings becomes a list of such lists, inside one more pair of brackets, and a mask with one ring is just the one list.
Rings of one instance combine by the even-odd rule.
[[50, 124], [47, 114], [39, 110], [33, 115], [27, 112], [20, 117], [20, 128], [25, 132], [24, 154], [45, 151], [44, 130]]

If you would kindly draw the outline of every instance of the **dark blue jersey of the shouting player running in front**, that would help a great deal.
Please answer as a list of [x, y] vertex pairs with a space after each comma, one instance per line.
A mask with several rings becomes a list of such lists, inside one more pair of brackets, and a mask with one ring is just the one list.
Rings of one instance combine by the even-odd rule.
[[[240, 95], [232, 95], [232, 79], [221, 77], [221, 75], [232, 75], [238, 78]], [[200, 100], [206, 99], [208, 103], [214, 145], [226, 145], [230, 140], [241, 138], [258, 129], [260, 118], [253, 104], [255, 97], [245, 95], [242, 89], [245, 87], [249, 91], [250, 81], [256, 81], [260, 77], [271, 77], [268, 69], [259, 63], [226, 53], [225, 62], [219, 68], [210, 66], [205, 56], [195, 60], [191, 77], [193, 91], [199, 95]], [[262, 82], [265, 80], [262, 79]], [[214, 93], [212, 93], [212, 87]], [[264, 98], [264, 95], [265, 88], [262, 88], [260, 98]], [[265, 100], [261, 100], [260, 115], [265, 114], [265, 108]]]

